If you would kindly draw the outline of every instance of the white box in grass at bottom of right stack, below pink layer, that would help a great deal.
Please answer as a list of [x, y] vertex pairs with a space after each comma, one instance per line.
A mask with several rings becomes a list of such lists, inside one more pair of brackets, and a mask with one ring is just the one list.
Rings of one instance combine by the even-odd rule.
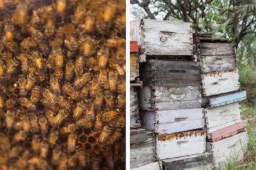
[[232, 157], [241, 160], [246, 152], [247, 143], [247, 132], [240, 132], [223, 140], [207, 142], [206, 149], [213, 153], [213, 160], [218, 168], [224, 167], [224, 163]]

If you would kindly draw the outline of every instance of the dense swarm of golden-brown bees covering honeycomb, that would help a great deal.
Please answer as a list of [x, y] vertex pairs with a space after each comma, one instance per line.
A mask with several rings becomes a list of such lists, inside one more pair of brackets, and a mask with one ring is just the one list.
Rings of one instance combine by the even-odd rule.
[[125, 1], [0, 0], [0, 169], [124, 169]]

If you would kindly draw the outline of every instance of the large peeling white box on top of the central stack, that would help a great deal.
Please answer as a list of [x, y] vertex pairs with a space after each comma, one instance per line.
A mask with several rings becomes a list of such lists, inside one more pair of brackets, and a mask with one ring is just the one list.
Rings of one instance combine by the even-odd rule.
[[141, 19], [130, 29], [130, 38], [138, 42], [140, 62], [145, 62], [147, 55], [193, 55], [190, 22]]

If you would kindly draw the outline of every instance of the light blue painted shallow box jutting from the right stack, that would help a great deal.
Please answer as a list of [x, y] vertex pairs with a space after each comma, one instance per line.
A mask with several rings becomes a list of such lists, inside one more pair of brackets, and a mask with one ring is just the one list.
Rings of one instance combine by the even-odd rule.
[[236, 101], [246, 100], [246, 91], [238, 92], [231, 95], [225, 95], [222, 97], [211, 98], [209, 100], [208, 107], [224, 106], [226, 104], [235, 103]]

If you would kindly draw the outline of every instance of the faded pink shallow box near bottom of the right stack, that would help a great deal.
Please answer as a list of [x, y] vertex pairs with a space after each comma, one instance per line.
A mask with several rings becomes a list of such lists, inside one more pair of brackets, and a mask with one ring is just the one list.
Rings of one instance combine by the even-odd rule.
[[235, 134], [238, 134], [238, 132], [244, 131], [244, 127], [246, 127], [246, 121], [235, 123], [231, 126], [220, 129], [219, 131], [210, 133], [210, 139], [207, 139], [207, 141], [213, 142], [221, 140], [222, 138], [231, 137]]

